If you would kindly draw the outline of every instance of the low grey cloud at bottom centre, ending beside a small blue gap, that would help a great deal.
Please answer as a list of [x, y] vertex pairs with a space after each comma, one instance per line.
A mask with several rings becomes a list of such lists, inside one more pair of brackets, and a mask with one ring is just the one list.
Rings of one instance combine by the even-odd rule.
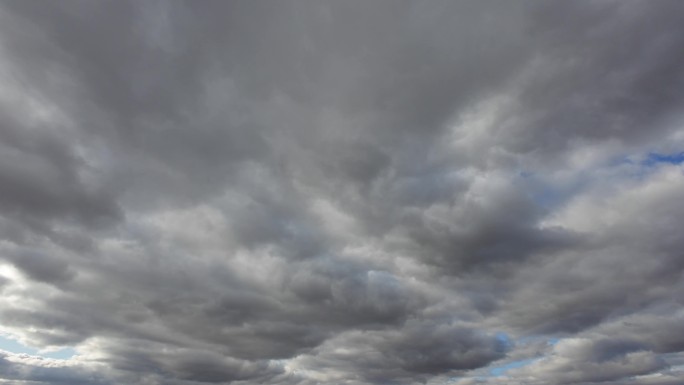
[[485, 366], [506, 350], [495, 336], [472, 328], [410, 320], [392, 331], [341, 334], [294, 365], [327, 374], [330, 381], [353, 371], [360, 383], [412, 383]]

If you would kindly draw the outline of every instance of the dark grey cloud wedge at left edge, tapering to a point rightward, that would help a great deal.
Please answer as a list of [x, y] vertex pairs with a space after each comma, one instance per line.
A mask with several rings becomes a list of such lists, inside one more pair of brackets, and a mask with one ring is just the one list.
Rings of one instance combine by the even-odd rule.
[[25, 221], [72, 218], [91, 225], [121, 215], [107, 191], [79, 175], [87, 165], [68, 143], [76, 138], [60, 138], [59, 127], [53, 132], [47, 122], [22, 121], [26, 118], [16, 116], [16, 106], [6, 108], [15, 109], [2, 114], [0, 134], [0, 205], [7, 215]]

